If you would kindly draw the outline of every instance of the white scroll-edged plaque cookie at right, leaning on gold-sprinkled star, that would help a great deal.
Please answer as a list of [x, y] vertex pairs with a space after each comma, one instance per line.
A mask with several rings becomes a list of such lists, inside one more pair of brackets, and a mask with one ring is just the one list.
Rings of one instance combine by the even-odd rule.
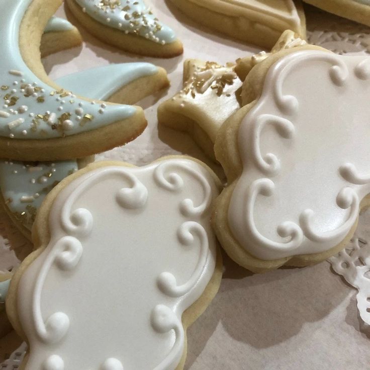
[[345, 247], [370, 205], [369, 71], [368, 57], [302, 46], [249, 72], [215, 144], [228, 186], [213, 225], [236, 262], [262, 272]]

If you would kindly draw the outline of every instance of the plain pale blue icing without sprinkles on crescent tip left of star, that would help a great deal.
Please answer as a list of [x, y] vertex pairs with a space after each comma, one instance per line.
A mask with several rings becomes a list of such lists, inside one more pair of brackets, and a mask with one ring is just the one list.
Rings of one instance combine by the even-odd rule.
[[68, 74], [56, 82], [77, 95], [106, 100], [122, 86], [157, 71], [158, 68], [150, 63], [109, 64]]

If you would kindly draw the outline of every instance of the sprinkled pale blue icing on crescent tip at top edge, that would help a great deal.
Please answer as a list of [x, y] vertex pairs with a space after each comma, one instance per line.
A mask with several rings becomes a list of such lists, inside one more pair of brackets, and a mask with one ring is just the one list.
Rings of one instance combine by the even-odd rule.
[[96, 21], [148, 40], [169, 44], [176, 40], [172, 29], [151, 13], [143, 0], [75, 0]]

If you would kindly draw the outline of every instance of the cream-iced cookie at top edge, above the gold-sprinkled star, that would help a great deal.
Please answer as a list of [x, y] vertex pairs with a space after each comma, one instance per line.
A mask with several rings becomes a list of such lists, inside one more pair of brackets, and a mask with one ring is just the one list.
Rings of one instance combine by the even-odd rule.
[[300, 0], [171, 1], [196, 22], [262, 47], [271, 48], [287, 29], [306, 38], [306, 19]]

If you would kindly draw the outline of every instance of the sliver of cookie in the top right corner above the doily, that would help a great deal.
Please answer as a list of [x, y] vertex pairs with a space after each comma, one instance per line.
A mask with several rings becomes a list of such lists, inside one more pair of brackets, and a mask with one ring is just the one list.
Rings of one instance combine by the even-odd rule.
[[303, 0], [326, 12], [370, 26], [369, 0]]

